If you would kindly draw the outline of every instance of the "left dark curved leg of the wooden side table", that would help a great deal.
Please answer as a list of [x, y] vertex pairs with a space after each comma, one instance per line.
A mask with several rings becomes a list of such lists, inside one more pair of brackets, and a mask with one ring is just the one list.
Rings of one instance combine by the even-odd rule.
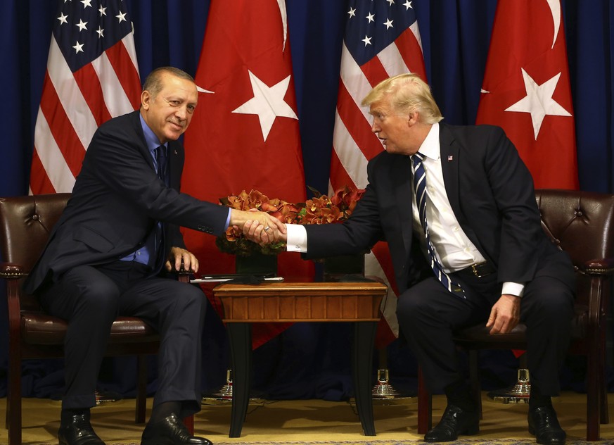
[[250, 403], [252, 328], [250, 323], [227, 323], [232, 356], [232, 413], [229, 437], [241, 437]]

